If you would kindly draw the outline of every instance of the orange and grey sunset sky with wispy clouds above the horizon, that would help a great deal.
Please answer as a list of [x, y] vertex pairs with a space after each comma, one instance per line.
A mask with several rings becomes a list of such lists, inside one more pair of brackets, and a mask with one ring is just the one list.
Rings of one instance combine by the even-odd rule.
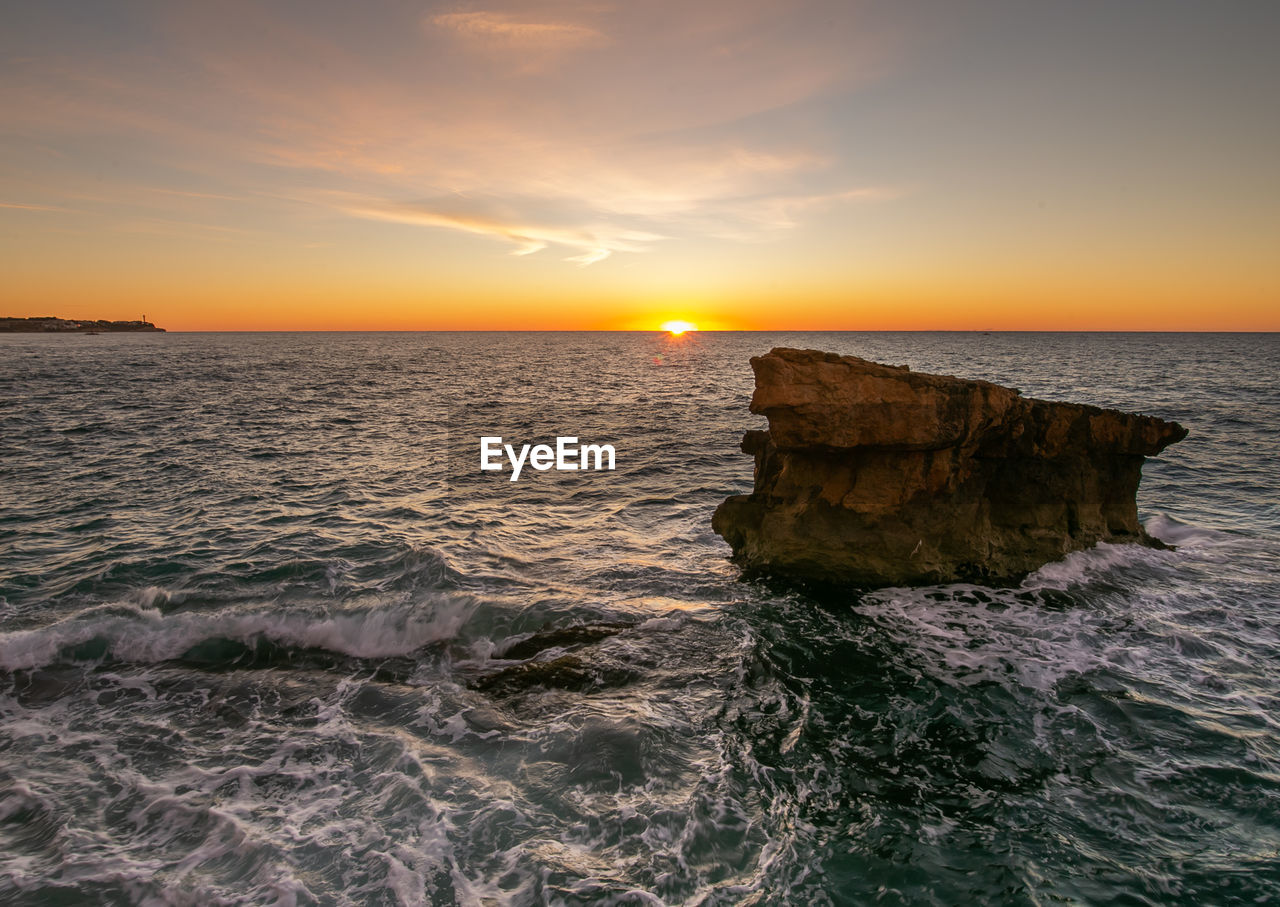
[[13, 4], [0, 315], [1280, 329], [1280, 4]]

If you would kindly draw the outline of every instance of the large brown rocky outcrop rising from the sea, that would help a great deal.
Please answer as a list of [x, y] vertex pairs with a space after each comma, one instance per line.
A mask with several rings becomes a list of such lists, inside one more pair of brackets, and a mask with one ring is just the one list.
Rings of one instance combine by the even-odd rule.
[[1000, 585], [1100, 541], [1160, 544], [1138, 482], [1176, 422], [813, 349], [751, 367], [755, 490], [712, 519], [749, 573]]

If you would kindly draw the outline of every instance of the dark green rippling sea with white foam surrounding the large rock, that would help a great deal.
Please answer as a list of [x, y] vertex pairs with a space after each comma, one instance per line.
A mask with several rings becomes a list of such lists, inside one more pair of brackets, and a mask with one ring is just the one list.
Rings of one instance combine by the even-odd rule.
[[[1183, 422], [1175, 550], [741, 582], [774, 345]], [[3, 336], [0, 902], [1275, 902], [1277, 377], [1276, 335]]]

